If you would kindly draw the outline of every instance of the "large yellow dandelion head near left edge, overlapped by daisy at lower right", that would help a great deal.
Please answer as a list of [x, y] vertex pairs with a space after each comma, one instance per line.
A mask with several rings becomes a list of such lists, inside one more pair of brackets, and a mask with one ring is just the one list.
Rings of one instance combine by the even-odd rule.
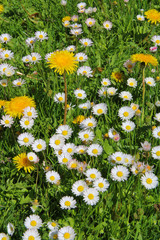
[[36, 107], [34, 100], [27, 96], [15, 97], [4, 105], [4, 111], [12, 117], [21, 117], [26, 107]]

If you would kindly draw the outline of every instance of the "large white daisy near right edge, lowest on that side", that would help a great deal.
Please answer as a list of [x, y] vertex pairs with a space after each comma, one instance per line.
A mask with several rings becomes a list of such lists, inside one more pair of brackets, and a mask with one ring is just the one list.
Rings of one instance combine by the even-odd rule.
[[158, 177], [154, 173], [148, 173], [146, 172], [141, 177], [141, 183], [145, 188], [147, 189], [153, 189], [158, 186]]

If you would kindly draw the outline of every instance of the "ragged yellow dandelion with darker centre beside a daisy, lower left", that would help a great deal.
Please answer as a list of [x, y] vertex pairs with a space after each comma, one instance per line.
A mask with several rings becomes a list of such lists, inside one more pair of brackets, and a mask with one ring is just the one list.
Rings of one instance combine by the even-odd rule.
[[16, 165], [18, 171], [21, 168], [24, 168], [25, 172], [28, 171], [30, 173], [34, 169], [33, 163], [28, 160], [26, 153], [21, 153], [14, 157], [13, 162]]

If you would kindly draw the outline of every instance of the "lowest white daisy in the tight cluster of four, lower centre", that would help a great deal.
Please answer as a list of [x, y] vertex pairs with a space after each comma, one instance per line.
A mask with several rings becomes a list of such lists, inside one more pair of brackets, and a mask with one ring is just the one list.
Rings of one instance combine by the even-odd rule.
[[96, 205], [99, 201], [99, 193], [95, 188], [88, 188], [83, 192], [83, 199], [88, 205]]

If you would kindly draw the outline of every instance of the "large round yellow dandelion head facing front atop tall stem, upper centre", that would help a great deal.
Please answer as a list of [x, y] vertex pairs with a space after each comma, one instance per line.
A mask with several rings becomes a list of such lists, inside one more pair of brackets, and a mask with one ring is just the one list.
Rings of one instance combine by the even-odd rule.
[[73, 73], [77, 69], [78, 61], [73, 53], [67, 50], [56, 51], [48, 58], [49, 67], [62, 75], [64, 72]]

